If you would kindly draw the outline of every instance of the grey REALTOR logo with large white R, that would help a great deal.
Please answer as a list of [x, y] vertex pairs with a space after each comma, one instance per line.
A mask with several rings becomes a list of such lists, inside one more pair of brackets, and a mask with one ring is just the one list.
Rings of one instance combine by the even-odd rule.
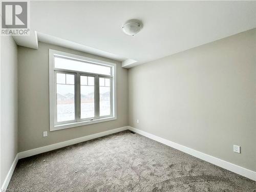
[[2, 2], [2, 35], [28, 35], [28, 2]]

